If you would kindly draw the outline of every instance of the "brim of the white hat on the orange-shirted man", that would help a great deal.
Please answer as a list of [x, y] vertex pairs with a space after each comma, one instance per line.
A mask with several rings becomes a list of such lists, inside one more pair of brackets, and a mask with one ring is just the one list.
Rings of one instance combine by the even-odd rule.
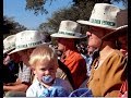
[[58, 33], [55, 33], [55, 34], [51, 34], [50, 35], [51, 37], [62, 37], [62, 38], [86, 38], [87, 36], [86, 35], [82, 35], [82, 36], [70, 36], [70, 35], [63, 35], [63, 34], [58, 34]]

